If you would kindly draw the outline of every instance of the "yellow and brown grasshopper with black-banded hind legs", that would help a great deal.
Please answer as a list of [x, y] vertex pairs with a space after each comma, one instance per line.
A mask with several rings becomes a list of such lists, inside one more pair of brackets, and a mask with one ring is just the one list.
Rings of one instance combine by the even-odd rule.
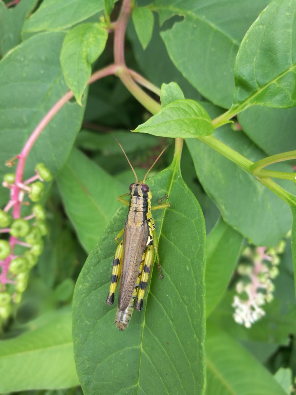
[[[116, 141], [118, 142], [117, 139]], [[118, 144], [126, 156], [127, 162], [131, 166], [136, 178], [136, 182], [133, 182], [129, 186], [130, 192], [118, 197], [121, 203], [129, 206], [129, 211], [124, 228], [115, 237], [118, 246], [113, 260], [111, 284], [106, 300], [107, 305], [114, 303], [114, 293], [120, 278], [118, 307], [114, 324], [116, 323], [118, 329], [123, 331], [129, 323], [134, 308], [135, 310], [142, 310], [143, 298], [154, 258], [157, 261], [159, 277], [163, 278], [158, 255], [155, 223], [151, 210], [164, 209], [170, 207], [170, 205], [169, 203], [160, 203], [157, 206], [151, 206], [152, 194], [149, 186], [145, 184], [148, 173], [167, 149], [168, 145], [161, 151], [152, 166], [150, 166], [143, 181], [139, 181], [126, 152], [124, 152], [119, 142]], [[131, 196], [129, 202], [124, 199], [124, 196], [128, 195]], [[164, 199], [166, 198], [167, 195]], [[163, 199], [160, 199], [159, 202], [161, 200]], [[118, 240], [121, 236], [123, 236], [122, 241], [119, 242]]]

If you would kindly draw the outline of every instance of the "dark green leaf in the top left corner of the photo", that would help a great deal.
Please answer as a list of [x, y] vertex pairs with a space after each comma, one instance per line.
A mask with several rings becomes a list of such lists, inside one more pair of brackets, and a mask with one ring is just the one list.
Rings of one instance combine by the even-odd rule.
[[14, 8], [7, 8], [0, 0], [0, 54], [2, 57], [21, 42], [21, 30], [26, 17], [38, 0], [26, 0]]

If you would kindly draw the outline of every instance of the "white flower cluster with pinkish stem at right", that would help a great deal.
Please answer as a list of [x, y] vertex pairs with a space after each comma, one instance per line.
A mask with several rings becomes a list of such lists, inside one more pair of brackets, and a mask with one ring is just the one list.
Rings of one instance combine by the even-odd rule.
[[238, 324], [251, 327], [265, 315], [261, 306], [270, 303], [274, 299], [274, 283], [272, 280], [279, 274], [278, 254], [285, 249], [285, 242], [281, 242], [277, 248], [267, 249], [256, 247], [253, 250], [247, 247], [243, 252], [246, 263], [238, 265], [238, 273], [242, 276], [236, 284], [236, 292], [232, 307], [235, 308], [233, 318]]

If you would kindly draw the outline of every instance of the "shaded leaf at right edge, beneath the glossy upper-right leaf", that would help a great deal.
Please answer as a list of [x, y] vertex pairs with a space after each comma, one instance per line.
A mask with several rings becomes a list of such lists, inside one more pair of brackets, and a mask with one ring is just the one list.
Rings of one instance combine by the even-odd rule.
[[270, 108], [254, 105], [238, 114], [242, 128], [266, 154], [296, 149], [296, 108]]

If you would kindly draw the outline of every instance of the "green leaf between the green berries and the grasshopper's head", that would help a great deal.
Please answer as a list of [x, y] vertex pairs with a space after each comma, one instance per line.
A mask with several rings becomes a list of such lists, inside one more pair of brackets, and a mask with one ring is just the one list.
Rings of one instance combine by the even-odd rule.
[[90, 252], [120, 205], [117, 197], [126, 190], [77, 149], [58, 176], [58, 186], [79, 240]]

